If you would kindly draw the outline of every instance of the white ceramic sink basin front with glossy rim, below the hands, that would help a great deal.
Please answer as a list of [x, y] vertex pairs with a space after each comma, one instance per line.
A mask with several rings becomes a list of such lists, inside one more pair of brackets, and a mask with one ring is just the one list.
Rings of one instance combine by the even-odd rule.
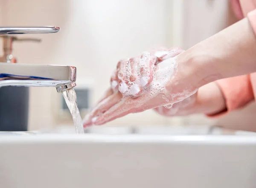
[[0, 137], [1, 188], [254, 188], [256, 137]]

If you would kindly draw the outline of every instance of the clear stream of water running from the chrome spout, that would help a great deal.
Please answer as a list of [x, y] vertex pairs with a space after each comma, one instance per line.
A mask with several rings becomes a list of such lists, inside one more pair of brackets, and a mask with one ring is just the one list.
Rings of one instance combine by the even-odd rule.
[[70, 113], [73, 118], [73, 122], [76, 128], [76, 134], [84, 134], [84, 127], [82, 123], [82, 118], [79, 113], [76, 101], [76, 91], [72, 88], [62, 92], [62, 95], [67, 103]]

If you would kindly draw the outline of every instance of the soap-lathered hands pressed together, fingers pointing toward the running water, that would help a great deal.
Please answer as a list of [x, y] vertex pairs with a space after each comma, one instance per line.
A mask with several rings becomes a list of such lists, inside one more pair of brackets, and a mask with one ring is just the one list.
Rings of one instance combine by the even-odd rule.
[[[102, 125], [130, 113], [166, 106], [195, 94], [186, 68], [176, 62], [181, 48], [161, 48], [121, 60], [111, 76], [111, 88], [84, 119], [84, 127]], [[184, 71], [185, 70], [185, 71]]]

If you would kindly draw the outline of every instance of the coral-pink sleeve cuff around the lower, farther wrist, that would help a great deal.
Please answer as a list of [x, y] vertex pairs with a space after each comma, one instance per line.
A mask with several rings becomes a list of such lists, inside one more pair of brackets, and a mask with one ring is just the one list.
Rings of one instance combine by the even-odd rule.
[[241, 108], [253, 100], [253, 88], [250, 75], [231, 77], [216, 81], [222, 91], [226, 103], [226, 109], [217, 114], [208, 114], [209, 117], [218, 117], [229, 111]]

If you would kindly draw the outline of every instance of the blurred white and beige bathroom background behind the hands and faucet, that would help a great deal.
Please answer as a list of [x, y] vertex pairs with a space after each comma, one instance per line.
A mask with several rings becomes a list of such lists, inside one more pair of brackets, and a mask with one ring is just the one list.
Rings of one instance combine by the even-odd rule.
[[[121, 58], [157, 47], [188, 49], [236, 20], [228, 0], [0, 0], [0, 26], [59, 26], [41, 43], [14, 43], [19, 63], [76, 66], [82, 117], [109, 86]], [[2, 41], [1, 41], [2, 43]], [[2, 45], [2, 44], [1, 44]], [[2, 52], [1, 52], [2, 53]], [[73, 126], [55, 88], [29, 88], [29, 130]], [[219, 119], [130, 114], [104, 126], [225, 125], [249, 129], [254, 104]]]

